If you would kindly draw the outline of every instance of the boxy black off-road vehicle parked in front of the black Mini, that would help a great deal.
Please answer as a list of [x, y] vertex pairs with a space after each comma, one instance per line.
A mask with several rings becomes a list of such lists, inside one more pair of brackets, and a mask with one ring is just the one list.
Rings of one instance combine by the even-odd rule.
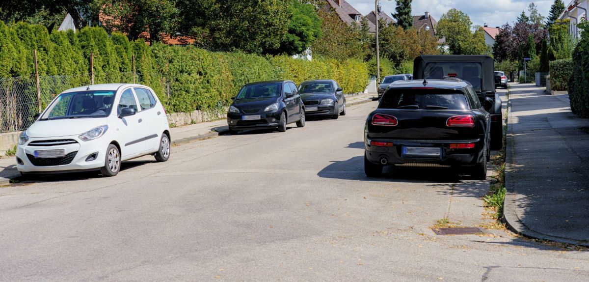
[[495, 62], [487, 55], [422, 55], [413, 61], [413, 79], [461, 78], [472, 84], [481, 103], [489, 98], [491, 148], [503, 146], [501, 98], [495, 92]]

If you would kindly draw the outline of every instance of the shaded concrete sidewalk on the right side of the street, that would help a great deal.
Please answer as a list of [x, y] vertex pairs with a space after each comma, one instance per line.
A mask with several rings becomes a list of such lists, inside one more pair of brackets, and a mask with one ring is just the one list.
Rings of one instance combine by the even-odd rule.
[[511, 86], [504, 215], [515, 231], [589, 245], [589, 120], [568, 96]]

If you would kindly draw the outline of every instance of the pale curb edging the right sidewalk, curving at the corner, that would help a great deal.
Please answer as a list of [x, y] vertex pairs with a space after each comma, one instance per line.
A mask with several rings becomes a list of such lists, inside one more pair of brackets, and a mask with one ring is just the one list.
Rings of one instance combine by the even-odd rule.
[[562, 237], [554, 237], [551, 235], [542, 234], [540, 232], [536, 232], [527, 226], [525, 226], [524, 222], [522, 222], [517, 212], [515, 212], [515, 203], [513, 198], [515, 197], [515, 189], [511, 185], [513, 182], [512, 179], [515, 178], [515, 165], [514, 165], [514, 146], [513, 146], [513, 123], [511, 122], [511, 99], [509, 99], [507, 104], [507, 109], [509, 109], [509, 114], [507, 116], [507, 133], [506, 133], [506, 141], [505, 141], [505, 199], [503, 202], [503, 218], [502, 221], [505, 222], [507, 228], [517, 234], [524, 235], [525, 237], [535, 238], [539, 240], [548, 240], [554, 242], [560, 242], [564, 244], [574, 244], [574, 245], [581, 245], [584, 247], [589, 247], [589, 242], [585, 241], [578, 241], [568, 238]]

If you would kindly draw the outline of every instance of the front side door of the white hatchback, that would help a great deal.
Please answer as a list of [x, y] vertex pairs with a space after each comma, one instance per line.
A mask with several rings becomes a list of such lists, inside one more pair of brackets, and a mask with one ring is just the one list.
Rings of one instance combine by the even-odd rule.
[[[133, 93], [133, 89], [127, 88], [123, 90], [117, 103], [117, 115], [120, 115], [121, 110], [124, 108], [134, 109], [135, 112], [139, 110], [137, 106], [137, 99]], [[135, 155], [145, 150], [145, 143], [143, 141], [143, 130], [141, 124], [143, 120], [140, 117], [139, 112], [126, 117], [120, 117], [117, 119], [116, 125], [118, 133], [118, 142], [121, 146], [121, 156]]]

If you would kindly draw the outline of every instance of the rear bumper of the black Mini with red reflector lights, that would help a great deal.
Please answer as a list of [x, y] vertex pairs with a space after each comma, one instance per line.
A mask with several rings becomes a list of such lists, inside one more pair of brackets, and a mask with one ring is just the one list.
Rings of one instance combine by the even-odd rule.
[[[474, 166], [481, 162], [484, 153], [484, 141], [477, 140], [373, 140], [391, 142], [392, 147], [372, 146], [365, 142], [366, 158], [377, 164], [382, 164], [386, 159], [387, 165], [442, 165], [442, 166]], [[450, 149], [451, 143], [475, 143], [472, 149]], [[402, 153], [403, 146], [409, 147], [436, 147], [441, 149], [439, 156], [416, 157], [405, 156]]]

